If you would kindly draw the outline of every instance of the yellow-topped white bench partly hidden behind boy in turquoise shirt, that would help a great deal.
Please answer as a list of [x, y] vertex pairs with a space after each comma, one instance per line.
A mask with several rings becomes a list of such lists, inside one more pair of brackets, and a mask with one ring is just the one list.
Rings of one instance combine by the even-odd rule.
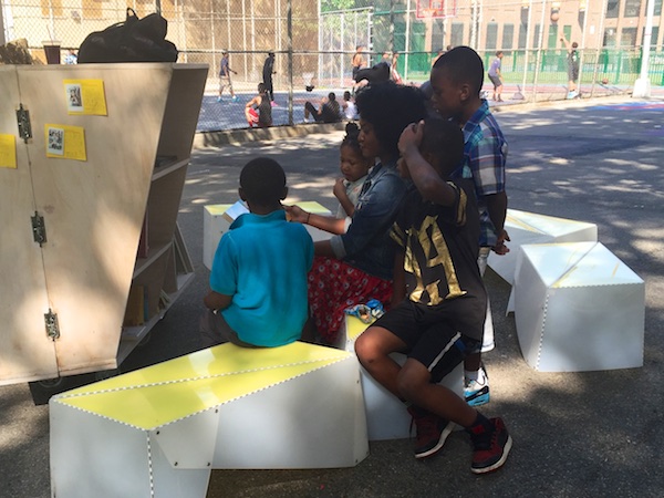
[[[308, 200], [295, 203], [297, 206], [300, 206], [308, 212], [313, 212], [315, 215], [322, 216], [332, 216], [332, 212], [322, 205], [317, 201]], [[203, 263], [208, 270], [212, 269], [212, 260], [215, 259], [215, 252], [217, 251], [217, 246], [219, 246], [219, 240], [221, 240], [221, 236], [228, 231], [232, 219], [228, 217], [226, 211], [232, 205], [230, 204], [214, 204], [209, 206], [205, 206], [203, 210]], [[309, 225], [304, 225], [307, 231], [313, 239], [313, 241], [318, 240], [326, 240], [331, 236], [326, 231], [319, 230], [318, 228], [311, 227]]]

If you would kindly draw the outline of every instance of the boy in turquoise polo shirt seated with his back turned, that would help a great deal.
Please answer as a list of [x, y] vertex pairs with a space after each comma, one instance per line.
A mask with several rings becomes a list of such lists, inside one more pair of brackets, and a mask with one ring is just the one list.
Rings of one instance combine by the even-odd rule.
[[250, 160], [240, 173], [249, 211], [224, 234], [210, 273], [201, 319], [203, 346], [224, 342], [256, 347], [300, 339], [308, 317], [307, 273], [313, 242], [301, 224], [286, 220], [286, 174], [273, 159]]

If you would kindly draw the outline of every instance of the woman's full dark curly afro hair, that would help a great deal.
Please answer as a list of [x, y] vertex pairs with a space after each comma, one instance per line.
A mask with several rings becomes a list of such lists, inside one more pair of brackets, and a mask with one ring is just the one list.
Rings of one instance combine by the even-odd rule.
[[355, 96], [360, 118], [373, 125], [381, 147], [395, 157], [398, 157], [398, 137], [404, 128], [426, 116], [424, 101], [419, 89], [393, 81], [370, 84]]

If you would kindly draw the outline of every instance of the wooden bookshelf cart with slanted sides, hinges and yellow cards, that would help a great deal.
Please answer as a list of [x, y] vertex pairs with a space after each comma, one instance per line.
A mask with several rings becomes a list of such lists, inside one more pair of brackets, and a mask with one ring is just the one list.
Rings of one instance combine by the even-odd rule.
[[117, 367], [193, 278], [176, 221], [207, 72], [0, 65], [0, 384]]

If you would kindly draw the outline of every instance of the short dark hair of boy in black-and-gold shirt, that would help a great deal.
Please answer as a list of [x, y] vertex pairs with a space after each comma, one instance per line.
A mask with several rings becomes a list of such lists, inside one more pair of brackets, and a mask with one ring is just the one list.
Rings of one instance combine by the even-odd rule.
[[424, 121], [419, 152], [436, 157], [440, 175], [447, 177], [464, 159], [464, 132], [449, 120], [427, 117]]

